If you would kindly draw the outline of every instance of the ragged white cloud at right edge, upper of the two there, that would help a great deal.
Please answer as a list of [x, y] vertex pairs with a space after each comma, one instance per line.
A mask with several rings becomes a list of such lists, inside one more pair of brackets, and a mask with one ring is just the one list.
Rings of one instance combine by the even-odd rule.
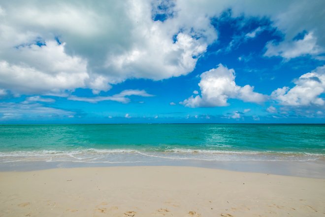
[[316, 55], [324, 51], [317, 45], [317, 38], [313, 33], [308, 33], [304, 38], [299, 40], [292, 40], [286, 43], [274, 44], [269, 42], [266, 45], [266, 52], [264, 56], [281, 56], [285, 59], [291, 59], [302, 55]]

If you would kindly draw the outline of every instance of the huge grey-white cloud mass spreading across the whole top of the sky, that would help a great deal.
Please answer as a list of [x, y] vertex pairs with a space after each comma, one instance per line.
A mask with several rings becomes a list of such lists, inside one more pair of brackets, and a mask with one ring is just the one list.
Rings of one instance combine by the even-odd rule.
[[[228, 8], [233, 16], [269, 17], [284, 32], [284, 41], [268, 45], [268, 56], [316, 55], [325, 46], [323, 1], [0, 0], [0, 5], [0, 88], [16, 94], [75, 88], [98, 94], [128, 78], [188, 74], [217, 39], [211, 19]], [[310, 34], [291, 42], [303, 30]]]

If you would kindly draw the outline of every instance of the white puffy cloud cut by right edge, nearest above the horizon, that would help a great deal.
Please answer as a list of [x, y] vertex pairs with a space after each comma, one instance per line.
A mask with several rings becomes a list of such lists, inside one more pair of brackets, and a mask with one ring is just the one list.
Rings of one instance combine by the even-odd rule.
[[324, 106], [320, 97], [325, 93], [325, 66], [301, 75], [294, 80], [295, 86], [282, 87], [274, 90], [271, 98], [284, 106]]

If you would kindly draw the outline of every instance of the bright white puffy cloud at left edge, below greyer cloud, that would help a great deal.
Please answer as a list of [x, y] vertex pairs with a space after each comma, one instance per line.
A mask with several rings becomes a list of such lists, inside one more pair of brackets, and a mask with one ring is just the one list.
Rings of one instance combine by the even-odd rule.
[[27, 94], [60, 93], [85, 87], [89, 79], [86, 61], [66, 55], [65, 44], [46, 43], [46, 46], [32, 44], [9, 51], [7, 55], [15, 59], [11, 63], [0, 60], [0, 86], [13, 93]]

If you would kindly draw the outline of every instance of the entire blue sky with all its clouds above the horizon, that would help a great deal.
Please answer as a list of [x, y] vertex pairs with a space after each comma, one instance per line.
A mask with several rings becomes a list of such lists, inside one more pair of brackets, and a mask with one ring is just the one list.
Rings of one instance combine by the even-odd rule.
[[0, 124], [325, 123], [324, 0], [0, 0]]

